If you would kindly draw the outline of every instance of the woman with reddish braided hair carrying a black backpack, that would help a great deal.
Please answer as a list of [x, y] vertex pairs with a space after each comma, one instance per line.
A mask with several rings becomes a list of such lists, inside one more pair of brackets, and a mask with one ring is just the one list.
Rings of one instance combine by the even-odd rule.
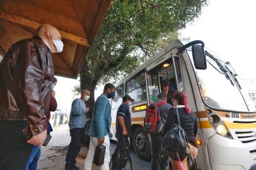
[[174, 170], [196, 169], [192, 162], [197, 157], [197, 116], [190, 110], [185, 93], [174, 94], [172, 103], [175, 107], [168, 112], [162, 144], [170, 151], [169, 156]]

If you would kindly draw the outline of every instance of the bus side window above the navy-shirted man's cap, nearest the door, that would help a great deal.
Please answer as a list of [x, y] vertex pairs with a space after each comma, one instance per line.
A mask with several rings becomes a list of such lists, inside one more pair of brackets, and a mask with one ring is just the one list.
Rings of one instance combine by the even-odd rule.
[[145, 101], [146, 97], [146, 81], [144, 72], [137, 75], [126, 83], [126, 93], [135, 99], [133, 103]]

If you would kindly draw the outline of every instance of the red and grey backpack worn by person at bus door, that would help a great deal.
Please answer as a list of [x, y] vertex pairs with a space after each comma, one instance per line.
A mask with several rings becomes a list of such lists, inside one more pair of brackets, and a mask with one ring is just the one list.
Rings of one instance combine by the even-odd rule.
[[164, 105], [165, 102], [161, 101], [154, 105], [151, 103], [147, 110], [144, 118], [144, 130], [148, 133], [160, 133], [163, 127], [161, 122], [160, 114], [158, 113], [158, 108]]

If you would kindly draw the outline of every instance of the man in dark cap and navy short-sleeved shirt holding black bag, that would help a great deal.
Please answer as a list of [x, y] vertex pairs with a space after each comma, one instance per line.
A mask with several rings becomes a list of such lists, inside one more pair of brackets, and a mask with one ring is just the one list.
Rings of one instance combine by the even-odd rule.
[[[131, 106], [132, 101], [134, 99], [129, 95], [125, 95], [123, 98], [122, 105], [119, 106], [117, 110], [117, 119], [116, 119], [116, 133], [115, 137], [117, 138], [117, 149], [112, 156], [112, 170], [119, 170], [126, 165], [128, 159], [130, 158], [130, 148], [129, 148], [129, 140], [131, 137], [131, 112], [129, 110], [129, 106]], [[119, 142], [122, 142], [123, 147]], [[126, 147], [124, 147], [126, 145]], [[119, 153], [117, 153], [119, 152]], [[120, 154], [124, 154], [124, 156], [120, 156]], [[127, 156], [125, 156], [127, 154]], [[117, 156], [119, 155], [119, 157]], [[117, 161], [118, 159], [118, 161]], [[123, 160], [124, 159], [124, 160]], [[131, 160], [130, 160], [131, 161]]]

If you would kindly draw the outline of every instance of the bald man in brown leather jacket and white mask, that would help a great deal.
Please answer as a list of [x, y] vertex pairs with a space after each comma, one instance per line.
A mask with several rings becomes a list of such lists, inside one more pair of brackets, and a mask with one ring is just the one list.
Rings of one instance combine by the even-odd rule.
[[25, 169], [33, 145], [43, 144], [54, 78], [52, 53], [61, 33], [44, 24], [12, 45], [0, 63], [0, 169]]

